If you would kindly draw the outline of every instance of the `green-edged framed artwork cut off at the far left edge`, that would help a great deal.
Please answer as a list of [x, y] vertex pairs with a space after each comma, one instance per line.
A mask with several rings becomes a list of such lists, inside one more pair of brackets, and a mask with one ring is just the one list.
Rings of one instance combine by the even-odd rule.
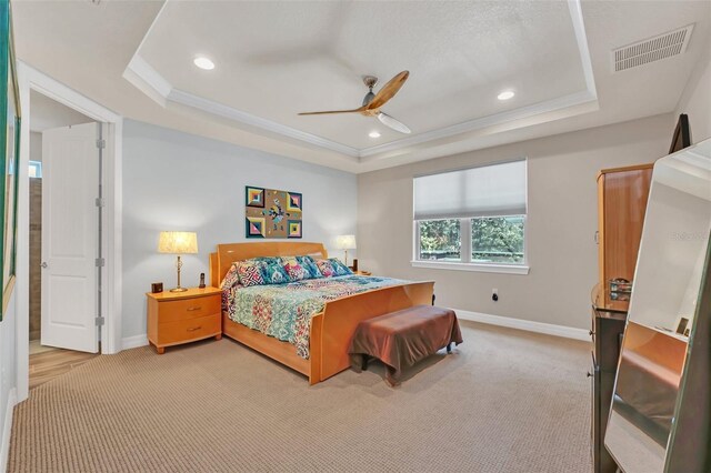
[[12, 40], [10, 2], [0, 0], [0, 209], [2, 209], [2, 240], [0, 250], [0, 286], [2, 310], [0, 321], [7, 312], [14, 288], [18, 214], [18, 160], [20, 143], [20, 92], [18, 89]]

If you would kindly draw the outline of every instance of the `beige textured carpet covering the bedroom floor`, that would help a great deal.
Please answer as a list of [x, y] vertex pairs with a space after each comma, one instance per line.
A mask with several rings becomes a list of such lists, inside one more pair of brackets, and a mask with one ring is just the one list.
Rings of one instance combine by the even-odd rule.
[[18, 405], [10, 472], [589, 472], [589, 345], [462, 322], [388, 388], [309, 388], [230, 340], [99, 356]]

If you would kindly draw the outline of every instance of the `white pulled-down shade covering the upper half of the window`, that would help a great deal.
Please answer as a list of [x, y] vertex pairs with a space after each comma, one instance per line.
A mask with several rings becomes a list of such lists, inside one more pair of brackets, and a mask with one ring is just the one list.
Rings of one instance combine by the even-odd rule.
[[414, 220], [525, 214], [525, 160], [414, 178]]

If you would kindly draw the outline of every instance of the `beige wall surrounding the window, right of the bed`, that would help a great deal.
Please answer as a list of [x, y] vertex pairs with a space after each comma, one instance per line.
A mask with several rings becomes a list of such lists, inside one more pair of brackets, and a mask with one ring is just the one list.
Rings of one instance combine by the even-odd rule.
[[[358, 177], [359, 266], [434, 280], [438, 304], [534, 322], [590, 326], [598, 280], [595, 175], [669, 149], [669, 114], [439, 158]], [[412, 178], [528, 157], [528, 275], [412, 268]], [[493, 288], [499, 302], [491, 300]]]

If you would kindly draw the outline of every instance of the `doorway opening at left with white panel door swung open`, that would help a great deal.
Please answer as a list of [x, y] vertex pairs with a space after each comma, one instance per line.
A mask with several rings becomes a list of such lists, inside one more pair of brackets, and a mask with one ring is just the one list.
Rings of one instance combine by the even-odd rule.
[[[101, 124], [30, 92], [30, 388], [99, 351]], [[83, 352], [83, 353], [80, 353]], [[87, 354], [84, 354], [87, 353]]]

